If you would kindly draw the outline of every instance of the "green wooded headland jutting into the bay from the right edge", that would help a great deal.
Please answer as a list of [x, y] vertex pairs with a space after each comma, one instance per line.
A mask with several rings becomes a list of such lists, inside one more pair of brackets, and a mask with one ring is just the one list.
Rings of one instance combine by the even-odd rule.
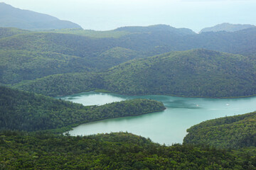
[[222, 148], [256, 147], [256, 112], [208, 120], [193, 125], [185, 144]]

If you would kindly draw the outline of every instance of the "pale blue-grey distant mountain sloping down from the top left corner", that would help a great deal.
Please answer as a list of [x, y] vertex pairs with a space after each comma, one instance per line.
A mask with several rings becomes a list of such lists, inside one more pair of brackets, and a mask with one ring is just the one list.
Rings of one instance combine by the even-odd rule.
[[50, 30], [60, 28], [81, 28], [76, 23], [61, 21], [43, 13], [14, 8], [0, 3], [0, 27], [14, 27], [27, 30]]

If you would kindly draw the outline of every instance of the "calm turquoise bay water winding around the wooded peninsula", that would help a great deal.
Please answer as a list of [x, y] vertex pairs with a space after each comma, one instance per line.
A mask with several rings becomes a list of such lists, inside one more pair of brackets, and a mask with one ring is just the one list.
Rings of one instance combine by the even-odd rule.
[[171, 145], [182, 143], [186, 129], [204, 120], [238, 115], [256, 110], [256, 97], [251, 98], [182, 98], [174, 96], [123, 96], [86, 92], [65, 96], [63, 99], [85, 106], [102, 105], [132, 98], [151, 98], [161, 101], [165, 111], [135, 117], [100, 120], [79, 125], [70, 135], [92, 135], [105, 132], [132, 132], [149, 137], [153, 142]]

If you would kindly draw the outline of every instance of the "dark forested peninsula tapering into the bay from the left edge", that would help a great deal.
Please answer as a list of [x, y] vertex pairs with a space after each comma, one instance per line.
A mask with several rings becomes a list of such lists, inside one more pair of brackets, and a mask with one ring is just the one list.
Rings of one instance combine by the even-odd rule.
[[0, 87], [0, 127], [9, 130], [50, 130], [95, 120], [163, 111], [159, 101], [134, 99], [103, 106], [82, 106], [29, 92]]

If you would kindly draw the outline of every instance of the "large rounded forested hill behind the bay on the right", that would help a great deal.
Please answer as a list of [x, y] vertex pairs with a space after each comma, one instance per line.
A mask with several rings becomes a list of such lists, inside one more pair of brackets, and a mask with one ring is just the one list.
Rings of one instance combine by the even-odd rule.
[[122, 94], [231, 97], [256, 94], [255, 61], [210, 50], [169, 52], [110, 69], [105, 89]]

